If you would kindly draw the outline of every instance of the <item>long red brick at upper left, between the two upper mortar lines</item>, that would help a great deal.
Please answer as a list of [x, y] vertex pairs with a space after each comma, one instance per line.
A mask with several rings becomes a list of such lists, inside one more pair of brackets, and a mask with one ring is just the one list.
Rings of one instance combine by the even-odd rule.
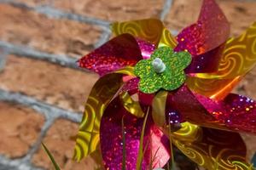
[[101, 35], [99, 27], [49, 19], [26, 9], [0, 4], [1, 40], [55, 54], [87, 54]]

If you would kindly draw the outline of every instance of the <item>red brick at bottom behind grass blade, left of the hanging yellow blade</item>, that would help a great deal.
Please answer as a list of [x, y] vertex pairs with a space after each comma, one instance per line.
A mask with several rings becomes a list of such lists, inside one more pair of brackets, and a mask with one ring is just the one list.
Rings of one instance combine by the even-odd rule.
[[[55, 157], [55, 161], [63, 170], [93, 170], [95, 163], [92, 158], [82, 160], [80, 163], [72, 160], [73, 147], [75, 144], [74, 136], [78, 132], [79, 125], [68, 122], [66, 120], [58, 120], [50, 127], [47, 136], [44, 138], [44, 144]], [[38, 167], [52, 169], [49, 157], [44, 152], [43, 148], [38, 150], [38, 153], [33, 156], [32, 162]]]

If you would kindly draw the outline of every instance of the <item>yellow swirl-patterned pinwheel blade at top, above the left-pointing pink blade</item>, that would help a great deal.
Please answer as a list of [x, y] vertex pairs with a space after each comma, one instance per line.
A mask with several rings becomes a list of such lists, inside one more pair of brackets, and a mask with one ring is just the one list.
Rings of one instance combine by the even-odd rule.
[[160, 42], [163, 28], [162, 22], [157, 19], [131, 20], [112, 24], [112, 31], [116, 36], [129, 33], [134, 37], [140, 37], [155, 45]]

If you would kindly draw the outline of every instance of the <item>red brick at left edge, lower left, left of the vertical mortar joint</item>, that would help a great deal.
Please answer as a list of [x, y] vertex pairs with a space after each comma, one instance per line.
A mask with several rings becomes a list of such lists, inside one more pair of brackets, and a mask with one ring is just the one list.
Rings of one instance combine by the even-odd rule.
[[24, 106], [0, 102], [0, 154], [25, 156], [38, 139], [44, 116]]

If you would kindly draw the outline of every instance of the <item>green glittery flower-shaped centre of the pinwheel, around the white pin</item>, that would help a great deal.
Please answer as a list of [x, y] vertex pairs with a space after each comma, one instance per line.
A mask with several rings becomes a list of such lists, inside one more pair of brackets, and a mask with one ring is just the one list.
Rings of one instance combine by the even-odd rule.
[[[165, 71], [158, 73], [152, 65], [154, 59], [161, 59], [166, 65]], [[140, 77], [139, 89], [145, 94], [153, 94], [160, 88], [173, 90], [179, 88], [185, 81], [183, 69], [191, 62], [187, 52], [174, 53], [172, 48], [158, 48], [150, 59], [140, 60], [134, 73]]]

